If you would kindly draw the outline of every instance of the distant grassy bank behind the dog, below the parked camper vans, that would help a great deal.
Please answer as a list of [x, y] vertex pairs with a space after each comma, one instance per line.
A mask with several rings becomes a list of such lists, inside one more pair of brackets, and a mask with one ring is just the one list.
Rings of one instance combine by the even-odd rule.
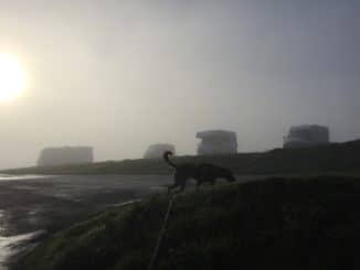
[[[264, 153], [214, 156], [179, 156], [174, 162], [210, 162], [237, 174], [359, 173], [360, 140], [306, 149], [275, 149]], [[124, 160], [84, 165], [6, 170], [10, 174], [169, 174], [161, 159]]]

